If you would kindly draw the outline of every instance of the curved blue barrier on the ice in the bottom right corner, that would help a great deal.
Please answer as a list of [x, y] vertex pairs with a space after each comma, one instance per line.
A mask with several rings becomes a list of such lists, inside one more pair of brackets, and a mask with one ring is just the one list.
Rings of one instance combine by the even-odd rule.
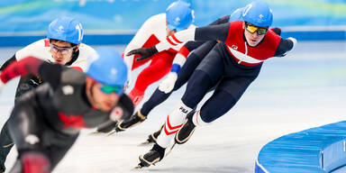
[[260, 151], [255, 173], [346, 172], [346, 121], [295, 132]]

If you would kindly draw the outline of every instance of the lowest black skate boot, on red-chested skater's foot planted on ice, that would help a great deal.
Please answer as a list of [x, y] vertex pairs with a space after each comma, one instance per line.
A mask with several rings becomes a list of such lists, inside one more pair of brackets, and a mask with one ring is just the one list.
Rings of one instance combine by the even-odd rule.
[[165, 156], [165, 149], [155, 144], [146, 154], [140, 156], [141, 163], [139, 167], [149, 167], [155, 165]]

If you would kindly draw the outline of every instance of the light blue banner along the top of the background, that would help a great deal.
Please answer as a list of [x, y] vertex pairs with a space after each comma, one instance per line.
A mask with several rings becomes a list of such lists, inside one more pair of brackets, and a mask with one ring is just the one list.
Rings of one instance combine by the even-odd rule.
[[[203, 26], [232, 14], [250, 0], [186, 0]], [[346, 0], [269, 1], [278, 27], [346, 26]], [[0, 36], [44, 36], [48, 24], [61, 15], [77, 18], [87, 34], [133, 35], [151, 15], [165, 13], [173, 0], [2, 0]], [[131, 39], [131, 38], [130, 38]], [[18, 39], [21, 40], [21, 39]], [[0, 43], [1, 44], [1, 43]]]

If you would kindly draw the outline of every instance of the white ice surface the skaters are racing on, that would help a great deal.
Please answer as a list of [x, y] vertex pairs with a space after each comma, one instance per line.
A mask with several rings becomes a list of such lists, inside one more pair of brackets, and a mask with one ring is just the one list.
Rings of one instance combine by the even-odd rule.
[[[115, 47], [120, 51], [123, 48]], [[1, 48], [1, 63], [19, 49]], [[92, 130], [81, 132], [54, 172], [252, 173], [259, 150], [269, 141], [345, 120], [345, 55], [344, 41], [305, 41], [298, 42], [287, 57], [267, 60], [259, 77], [230, 112], [209, 126], [197, 128], [190, 141], [176, 146], [156, 166], [132, 170], [139, 155], [151, 148], [139, 144], [159, 129], [185, 86], [154, 109], [147, 121], [127, 132], [112, 136], [90, 135]], [[133, 82], [139, 71], [134, 71]], [[150, 86], [144, 101], [157, 85]], [[13, 106], [15, 87], [11, 82], [1, 93], [1, 126]], [[7, 168], [14, 164], [15, 157], [12, 150]]]

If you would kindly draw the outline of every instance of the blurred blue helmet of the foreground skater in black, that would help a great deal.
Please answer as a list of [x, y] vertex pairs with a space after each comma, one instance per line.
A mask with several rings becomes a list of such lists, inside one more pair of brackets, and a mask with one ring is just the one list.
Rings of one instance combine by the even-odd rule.
[[99, 48], [96, 52], [97, 56], [89, 57], [92, 61], [87, 76], [107, 86], [123, 87], [127, 81], [127, 66], [119, 52], [111, 48]]

